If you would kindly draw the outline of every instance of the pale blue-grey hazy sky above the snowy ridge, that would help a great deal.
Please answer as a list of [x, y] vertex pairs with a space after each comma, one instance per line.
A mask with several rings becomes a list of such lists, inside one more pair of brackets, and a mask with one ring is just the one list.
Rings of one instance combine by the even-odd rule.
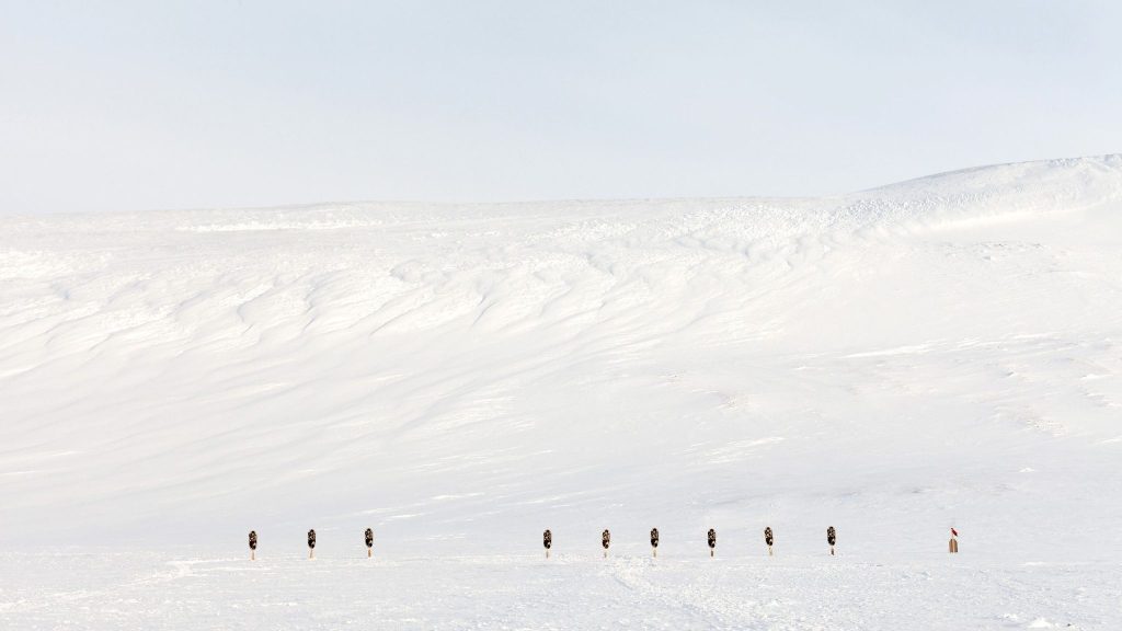
[[806, 195], [1122, 152], [1120, 4], [0, 0], [0, 213]]

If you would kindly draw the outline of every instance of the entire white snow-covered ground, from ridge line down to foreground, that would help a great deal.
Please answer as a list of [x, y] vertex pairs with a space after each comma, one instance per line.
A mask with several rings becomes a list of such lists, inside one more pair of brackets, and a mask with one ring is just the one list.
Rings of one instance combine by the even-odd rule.
[[1122, 628], [1122, 156], [6, 218], [0, 296], [3, 629]]

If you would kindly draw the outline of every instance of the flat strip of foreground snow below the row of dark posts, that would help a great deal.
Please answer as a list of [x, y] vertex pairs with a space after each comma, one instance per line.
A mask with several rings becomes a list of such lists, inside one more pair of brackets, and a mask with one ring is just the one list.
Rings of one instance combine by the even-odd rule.
[[[174, 556], [174, 555], [173, 555]], [[1101, 629], [1116, 566], [7, 555], [12, 629]]]

